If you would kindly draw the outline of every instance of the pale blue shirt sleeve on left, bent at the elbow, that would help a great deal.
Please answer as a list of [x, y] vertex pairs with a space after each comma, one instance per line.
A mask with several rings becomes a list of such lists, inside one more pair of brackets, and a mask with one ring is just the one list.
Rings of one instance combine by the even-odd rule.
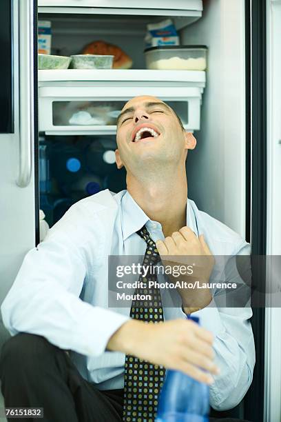
[[84, 232], [78, 224], [83, 214], [70, 210], [26, 254], [1, 313], [12, 335], [39, 334], [59, 348], [97, 356], [129, 317], [79, 299], [89, 263], [98, 259], [93, 251], [102, 250], [101, 228], [98, 221], [92, 224], [90, 248], [85, 237], [90, 229]]

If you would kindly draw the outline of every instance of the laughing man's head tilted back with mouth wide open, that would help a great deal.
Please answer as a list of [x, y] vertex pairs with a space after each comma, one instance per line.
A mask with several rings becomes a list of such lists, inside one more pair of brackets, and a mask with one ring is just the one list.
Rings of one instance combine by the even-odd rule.
[[129, 100], [117, 122], [116, 164], [127, 175], [145, 177], [166, 169], [185, 170], [187, 150], [196, 146], [178, 116], [164, 101], [145, 95]]

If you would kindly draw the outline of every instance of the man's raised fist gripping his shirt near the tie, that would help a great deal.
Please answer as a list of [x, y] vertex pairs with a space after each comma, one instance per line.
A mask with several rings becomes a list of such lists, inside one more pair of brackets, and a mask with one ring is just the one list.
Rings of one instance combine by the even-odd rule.
[[[211, 292], [202, 288], [207, 283], [214, 267], [214, 257], [208, 248], [203, 235], [199, 237], [187, 226], [166, 237], [164, 241], [156, 241], [156, 247], [163, 265], [176, 268], [176, 265], [192, 267], [192, 274], [169, 276], [171, 281], [184, 281], [193, 288], [180, 289], [178, 293], [183, 301], [183, 308], [187, 314], [205, 308], [211, 302]], [[196, 288], [196, 283], [200, 288]]]

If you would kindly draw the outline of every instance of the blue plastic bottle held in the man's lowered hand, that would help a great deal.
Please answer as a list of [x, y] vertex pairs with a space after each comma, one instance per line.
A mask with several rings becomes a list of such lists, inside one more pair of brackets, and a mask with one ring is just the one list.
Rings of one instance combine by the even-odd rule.
[[[199, 323], [196, 316], [189, 316], [189, 319]], [[209, 385], [183, 372], [167, 370], [156, 422], [207, 422], [208, 414]]]

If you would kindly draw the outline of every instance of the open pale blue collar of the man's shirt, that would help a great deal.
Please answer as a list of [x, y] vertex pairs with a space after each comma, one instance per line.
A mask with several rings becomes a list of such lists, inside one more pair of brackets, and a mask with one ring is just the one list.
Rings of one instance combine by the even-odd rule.
[[[134, 201], [131, 194], [128, 191], [125, 192], [121, 199], [122, 207], [122, 231], [123, 240], [125, 241], [131, 234], [134, 234], [137, 230], [140, 230], [143, 225], [148, 221], [151, 221], [147, 214], [141, 209], [141, 207]], [[189, 201], [187, 200], [187, 225], [191, 230], [194, 231], [198, 236], [198, 228], [196, 223], [196, 216], [194, 210], [191, 208]]]

